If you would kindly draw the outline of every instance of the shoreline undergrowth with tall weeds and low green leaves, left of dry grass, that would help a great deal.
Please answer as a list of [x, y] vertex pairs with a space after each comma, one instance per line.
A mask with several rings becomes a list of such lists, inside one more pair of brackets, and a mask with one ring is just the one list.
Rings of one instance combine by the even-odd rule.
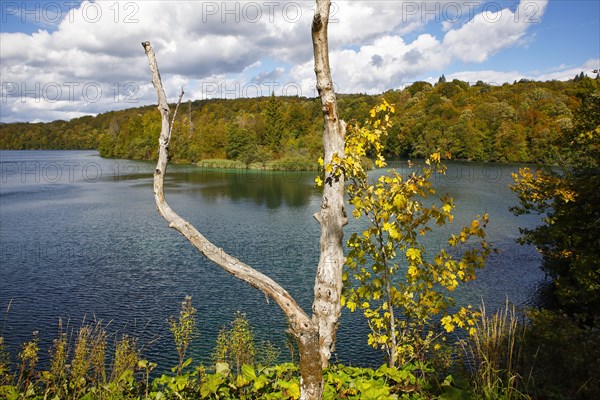
[[[196, 312], [191, 297], [186, 296], [178, 317], [167, 321], [179, 356], [170, 370], [146, 360], [136, 338], [109, 334], [98, 321], [83, 324], [71, 334], [59, 322], [58, 336], [48, 350], [41, 349], [36, 332], [21, 345], [16, 362], [0, 335], [0, 399], [300, 398], [299, 366], [273, 364], [278, 350], [269, 342], [257, 345], [252, 327], [240, 312], [221, 329], [210, 365], [186, 357], [199, 337]], [[43, 366], [39, 362], [42, 351], [49, 354]], [[432, 389], [432, 372], [418, 363], [377, 369], [332, 365], [323, 371], [323, 398], [430, 399], [433, 391], [458, 390], [448, 379]]]

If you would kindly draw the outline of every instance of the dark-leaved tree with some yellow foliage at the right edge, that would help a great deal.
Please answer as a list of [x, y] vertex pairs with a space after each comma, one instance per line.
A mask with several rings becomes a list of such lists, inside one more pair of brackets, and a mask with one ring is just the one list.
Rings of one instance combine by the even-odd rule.
[[521, 229], [521, 241], [542, 253], [561, 309], [591, 323], [600, 318], [600, 92], [582, 100], [557, 143], [567, 155], [558, 168], [522, 168], [511, 188], [520, 201], [513, 212], [544, 215], [542, 225]]

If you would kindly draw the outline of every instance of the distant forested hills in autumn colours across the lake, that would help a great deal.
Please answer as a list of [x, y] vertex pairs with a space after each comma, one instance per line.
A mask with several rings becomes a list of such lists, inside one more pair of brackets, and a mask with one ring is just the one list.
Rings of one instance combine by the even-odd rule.
[[[572, 125], [581, 98], [600, 79], [521, 80], [469, 85], [442, 76], [381, 95], [339, 95], [340, 116], [362, 121], [384, 97], [396, 105], [387, 157], [425, 157], [434, 150], [477, 161], [552, 163], [556, 138]], [[230, 159], [244, 164], [309, 160], [321, 153], [323, 122], [318, 99], [261, 97], [181, 104], [171, 143], [178, 162]], [[152, 160], [160, 115], [154, 106], [50, 123], [0, 125], [0, 149], [98, 149], [104, 157]]]

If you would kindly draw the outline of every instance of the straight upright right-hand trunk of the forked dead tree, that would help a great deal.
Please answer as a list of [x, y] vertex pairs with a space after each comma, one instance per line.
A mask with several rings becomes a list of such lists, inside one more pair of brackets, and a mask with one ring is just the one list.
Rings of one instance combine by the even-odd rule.
[[[344, 121], [338, 118], [329, 67], [327, 26], [330, 6], [330, 0], [317, 0], [312, 23], [317, 90], [321, 97], [325, 120], [323, 131], [325, 165], [331, 162], [334, 154], [339, 157], [344, 156], [346, 132]], [[321, 211], [315, 214], [315, 218], [321, 224], [321, 256], [315, 279], [313, 313], [319, 325], [321, 365], [325, 368], [329, 365], [331, 353], [335, 351], [335, 334], [341, 312], [342, 268], [345, 262], [342, 228], [348, 221], [344, 211], [344, 176], [328, 176], [323, 182]]]

